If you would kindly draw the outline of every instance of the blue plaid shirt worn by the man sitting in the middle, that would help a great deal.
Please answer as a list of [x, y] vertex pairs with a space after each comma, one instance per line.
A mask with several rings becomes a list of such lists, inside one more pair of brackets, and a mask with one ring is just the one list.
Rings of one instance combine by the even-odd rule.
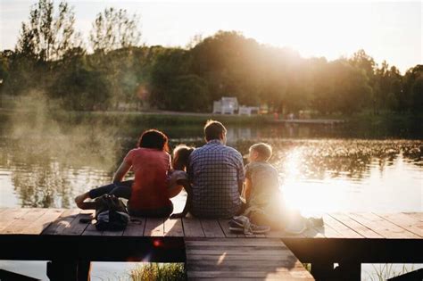
[[213, 139], [189, 157], [191, 212], [202, 218], [229, 218], [241, 208], [238, 182], [244, 181], [241, 153]]

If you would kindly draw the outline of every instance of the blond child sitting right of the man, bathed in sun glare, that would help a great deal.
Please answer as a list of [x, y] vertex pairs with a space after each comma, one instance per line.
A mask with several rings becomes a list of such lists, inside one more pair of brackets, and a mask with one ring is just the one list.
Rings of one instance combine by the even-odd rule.
[[322, 226], [322, 219], [305, 219], [297, 211], [289, 211], [279, 191], [278, 170], [270, 163], [272, 148], [267, 144], [250, 147], [249, 164], [245, 166], [244, 215], [258, 226], [284, 229], [300, 234], [309, 226]]

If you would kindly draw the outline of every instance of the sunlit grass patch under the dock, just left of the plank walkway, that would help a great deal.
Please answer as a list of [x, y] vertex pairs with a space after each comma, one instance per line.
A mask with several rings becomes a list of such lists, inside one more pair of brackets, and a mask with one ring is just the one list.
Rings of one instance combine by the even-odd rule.
[[146, 263], [129, 273], [132, 281], [179, 281], [187, 280], [184, 263]]

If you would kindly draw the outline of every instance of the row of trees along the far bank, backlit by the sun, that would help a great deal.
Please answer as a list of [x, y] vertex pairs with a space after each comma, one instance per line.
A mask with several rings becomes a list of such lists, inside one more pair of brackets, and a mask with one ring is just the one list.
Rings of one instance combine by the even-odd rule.
[[136, 14], [107, 8], [97, 14], [86, 43], [69, 4], [55, 9], [52, 0], [39, 0], [15, 49], [0, 53], [0, 95], [41, 91], [76, 111], [124, 104], [211, 112], [212, 101], [236, 96], [272, 112], [423, 112], [423, 65], [402, 75], [364, 50], [335, 61], [306, 59], [236, 31], [197, 36], [187, 47], [140, 45], [138, 23]]

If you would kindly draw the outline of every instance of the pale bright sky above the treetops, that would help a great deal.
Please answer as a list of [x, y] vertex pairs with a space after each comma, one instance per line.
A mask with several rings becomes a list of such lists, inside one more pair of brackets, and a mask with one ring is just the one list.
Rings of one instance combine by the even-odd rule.
[[[21, 22], [36, 0], [0, 0], [0, 50], [12, 49]], [[56, 4], [59, 1], [55, 1]], [[335, 60], [364, 49], [377, 63], [386, 60], [402, 73], [422, 64], [422, 4], [417, 2], [319, 2], [176, 0], [68, 0], [76, 29], [86, 38], [95, 15], [106, 7], [140, 17], [142, 43], [186, 46], [198, 34], [240, 31], [261, 44], [287, 46], [303, 57]]]

